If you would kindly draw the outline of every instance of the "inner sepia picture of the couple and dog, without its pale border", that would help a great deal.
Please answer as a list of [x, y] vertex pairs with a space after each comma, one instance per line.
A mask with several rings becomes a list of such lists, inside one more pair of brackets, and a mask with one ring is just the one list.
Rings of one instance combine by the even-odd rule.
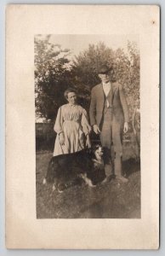
[[140, 218], [138, 35], [34, 38], [37, 218]]

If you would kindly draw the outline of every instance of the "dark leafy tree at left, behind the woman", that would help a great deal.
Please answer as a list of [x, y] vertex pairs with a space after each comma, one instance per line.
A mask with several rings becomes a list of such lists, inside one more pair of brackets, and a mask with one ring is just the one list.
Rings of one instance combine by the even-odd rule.
[[49, 35], [35, 38], [35, 103], [39, 117], [54, 120], [65, 103], [64, 91], [71, 86], [70, 50], [49, 43], [49, 39]]

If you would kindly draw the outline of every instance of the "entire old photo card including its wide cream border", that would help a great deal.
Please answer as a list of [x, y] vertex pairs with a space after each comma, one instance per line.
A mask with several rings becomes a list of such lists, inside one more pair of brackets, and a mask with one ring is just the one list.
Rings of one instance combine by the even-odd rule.
[[7, 248], [159, 247], [159, 44], [156, 5], [7, 6]]

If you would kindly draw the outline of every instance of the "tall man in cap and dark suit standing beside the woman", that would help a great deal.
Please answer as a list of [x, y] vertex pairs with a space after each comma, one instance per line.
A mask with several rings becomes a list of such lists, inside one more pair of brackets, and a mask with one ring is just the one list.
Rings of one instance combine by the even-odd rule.
[[99, 70], [101, 83], [94, 86], [91, 92], [90, 122], [94, 132], [100, 134], [104, 148], [105, 181], [115, 175], [119, 181], [128, 182], [122, 176], [122, 132], [128, 131], [128, 104], [122, 85], [111, 81], [112, 72], [112, 68], [106, 66]]

